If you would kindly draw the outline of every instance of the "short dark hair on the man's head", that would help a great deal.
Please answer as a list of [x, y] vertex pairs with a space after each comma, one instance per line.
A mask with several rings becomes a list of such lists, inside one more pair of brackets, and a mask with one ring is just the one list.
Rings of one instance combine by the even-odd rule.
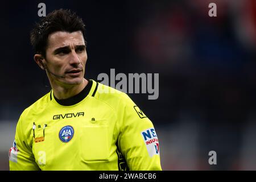
[[[44, 17], [30, 33], [30, 42], [36, 53], [46, 57], [49, 34], [56, 31], [81, 31], [85, 39], [85, 24], [71, 10], [54, 10]], [[86, 43], [86, 42], [85, 42]]]

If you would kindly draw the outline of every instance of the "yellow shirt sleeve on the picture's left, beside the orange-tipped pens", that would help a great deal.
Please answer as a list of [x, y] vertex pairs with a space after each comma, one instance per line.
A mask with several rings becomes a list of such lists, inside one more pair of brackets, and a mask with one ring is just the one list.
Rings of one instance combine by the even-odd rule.
[[[10, 171], [40, 170], [35, 162], [32, 147], [27, 143], [26, 127], [22, 126], [22, 115], [16, 126], [13, 147], [9, 150]], [[32, 126], [31, 126], [32, 129]], [[27, 136], [27, 137], [26, 137]]]

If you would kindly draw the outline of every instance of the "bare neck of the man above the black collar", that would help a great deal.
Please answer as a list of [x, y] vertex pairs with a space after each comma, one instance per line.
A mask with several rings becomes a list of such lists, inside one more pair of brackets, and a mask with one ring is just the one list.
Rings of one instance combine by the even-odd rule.
[[81, 84], [79, 85], [74, 85], [69, 87], [61, 86], [57, 84], [55, 84], [54, 86], [52, 84], [51, 85], [52, 85], [54, 96], [59, 100], [63, 100], [63, 99], [67, 99], [69, 97], [75, 96], [76, 94], [79, 94], [87, 84], [88, 84], [88, 80], [84, 78], [84, 80], [82, 80]]

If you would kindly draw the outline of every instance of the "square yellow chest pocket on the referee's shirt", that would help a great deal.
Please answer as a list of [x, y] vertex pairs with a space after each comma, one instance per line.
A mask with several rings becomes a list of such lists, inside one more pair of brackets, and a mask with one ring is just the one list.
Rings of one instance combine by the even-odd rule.
[[109, 158], [109, 121], [94, 119], [81, 122], [81, 157], [85, 161], [106, 161]]

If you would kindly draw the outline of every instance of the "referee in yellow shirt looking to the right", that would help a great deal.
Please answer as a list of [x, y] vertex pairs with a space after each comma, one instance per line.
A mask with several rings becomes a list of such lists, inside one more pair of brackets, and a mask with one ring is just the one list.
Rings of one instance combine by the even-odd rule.
[[10, 170], [162, 170], [150, 119], [127, 94], [84, 78], [82, 19], [52, 11], [30, 38], [52, 89], [20, 115]]

